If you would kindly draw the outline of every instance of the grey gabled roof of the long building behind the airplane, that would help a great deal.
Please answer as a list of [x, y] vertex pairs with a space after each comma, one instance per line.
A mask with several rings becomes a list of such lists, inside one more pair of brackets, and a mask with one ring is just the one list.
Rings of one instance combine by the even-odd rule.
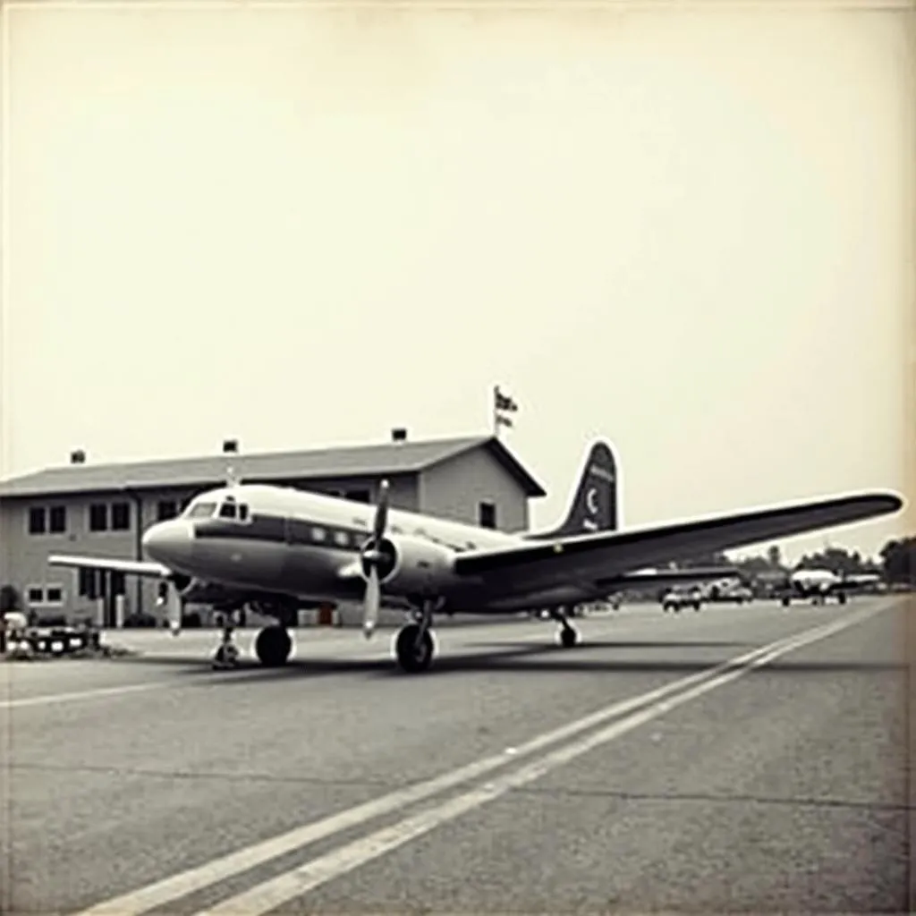
[[0, 483], [0, 497], [101, 493], [130, 488], [206, 487], [224, 483], [226, 469], [243, 480], [309, 480], [417, 473], [474, 448], [485, 448], [528, 496], [545, 496], [541, 485], [493, 436], [419, 442], [384, 442], [344, 448], [260, 454], [218, 454], [131, 463], [67, 464]]

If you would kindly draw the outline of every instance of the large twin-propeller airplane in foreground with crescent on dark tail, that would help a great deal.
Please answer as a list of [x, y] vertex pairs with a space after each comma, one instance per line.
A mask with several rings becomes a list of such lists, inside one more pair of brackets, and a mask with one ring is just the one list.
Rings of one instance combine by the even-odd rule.
[[[262, 664], [289, 659], [300, 607], [362, 599], [371, 635], [380, 606], [409, 610], [395, 642], [404, 671], [426, 671], [435, 614], [506, 614], [546, 608], [564, 647], [579, 641], [574, 605], [632, 587], [721, 578], [728, 569], [654, 571], [647, 567], [707, 551], [776, 540], [896, 512], [900, 496], [838, 496], [803, 505], [616, 530], [616, 474], [606, 442], [587, 454], [564, 524], [546, 534], [507, 533], [388, 507], [382, 481], [376, 507], [283, 486], [233, 483], [191, 500], [179, 518], [143, 535], [152, 562], [54, 555], [57, 566], [153, 576], [165, 588], [178, 632], [186, 602], [237, 610], [249, 605], [277, 625], [256, 637]], [[590, 527], [597, 530], [588, 530]], [[224, 631], [215, 661], [237, 649]]]

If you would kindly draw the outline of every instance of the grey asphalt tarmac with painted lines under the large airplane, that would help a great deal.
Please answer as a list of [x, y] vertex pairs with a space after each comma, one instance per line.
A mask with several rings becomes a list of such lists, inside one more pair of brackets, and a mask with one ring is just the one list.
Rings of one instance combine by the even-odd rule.
[[0, 911], [908, 911], [908, 601], [0, 663]]

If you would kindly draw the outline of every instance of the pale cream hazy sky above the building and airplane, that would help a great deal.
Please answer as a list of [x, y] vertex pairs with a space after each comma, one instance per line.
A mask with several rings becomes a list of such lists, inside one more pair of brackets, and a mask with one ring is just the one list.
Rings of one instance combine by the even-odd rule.
[[2, 474], [499, 382], [539, 526], [594, 435], [625, 524], [910, 496], [908, 14], [432, 6], [5, 5]]

